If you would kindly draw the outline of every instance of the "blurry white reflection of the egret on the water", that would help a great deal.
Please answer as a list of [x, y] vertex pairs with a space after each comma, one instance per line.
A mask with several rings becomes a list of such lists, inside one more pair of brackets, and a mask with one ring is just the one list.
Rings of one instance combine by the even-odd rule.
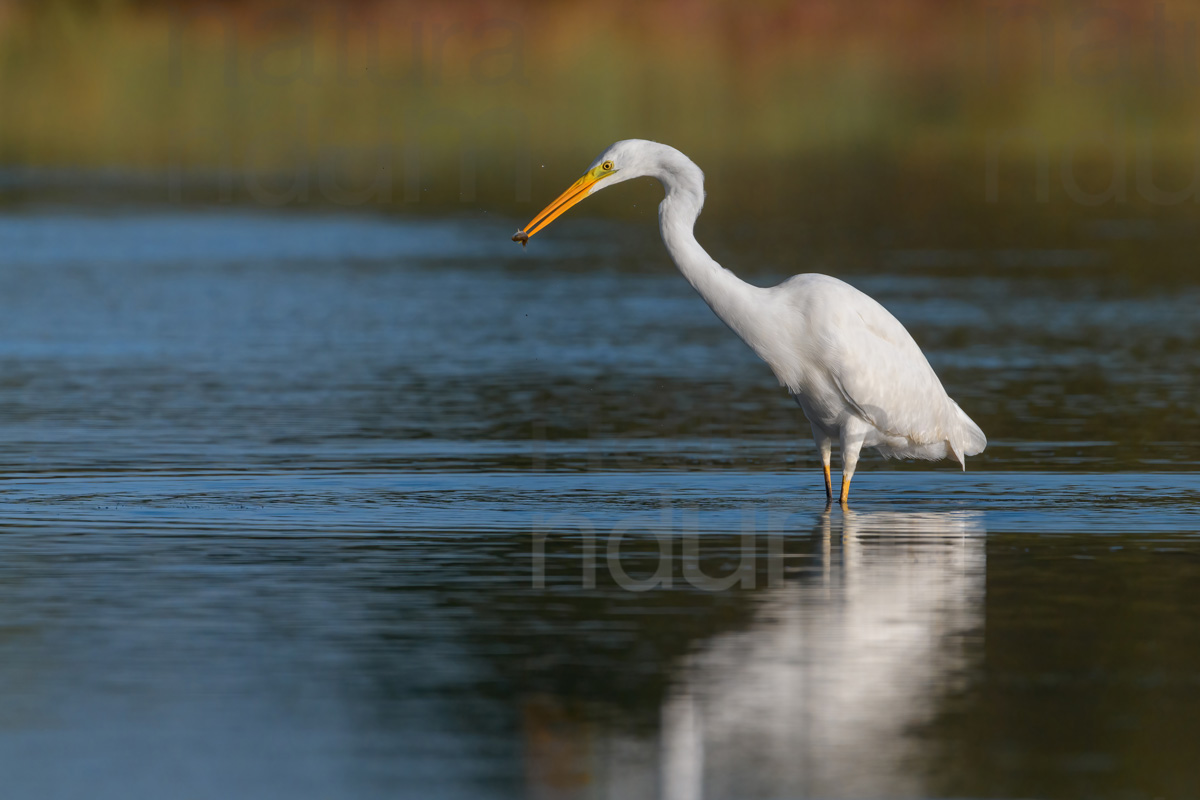
[[[553, 764], [530, 769], [530, 794], [919, 794], [911, 732], [954, 691], [983, 628], [984, 534], [974, 512], [821, 515], [818, 547], [788, 558], [787, 581], [762, 591], [750, 622], [676, 663], [656, 741], [559, 715], [558, 758], [539, 758], [545, 732], [528, 732], [530, 764]], [[586, 763], [569, 768], [568, 753]]]

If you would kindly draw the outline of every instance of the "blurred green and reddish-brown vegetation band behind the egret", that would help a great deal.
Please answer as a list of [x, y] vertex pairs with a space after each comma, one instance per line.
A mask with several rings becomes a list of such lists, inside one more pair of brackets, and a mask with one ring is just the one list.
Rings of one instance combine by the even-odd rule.
[[1103, 240], [1086, 269], [1190, 279], [1198, 19], [1175, 0], [0, 0], [0, 191], [98, 175], [149, 201], [523, 219], [640, 137], [706, 169], [716, 254], [764, 269]]

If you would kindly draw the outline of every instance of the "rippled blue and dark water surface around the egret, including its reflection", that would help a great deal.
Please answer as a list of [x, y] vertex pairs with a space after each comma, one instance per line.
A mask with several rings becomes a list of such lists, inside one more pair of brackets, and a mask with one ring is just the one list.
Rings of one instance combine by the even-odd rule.
[[1200, 285], [844, 275], [990, 443], [827, 510], [660, 251], [512, 228], [0, 217], [5, 796], [1200, 790]]

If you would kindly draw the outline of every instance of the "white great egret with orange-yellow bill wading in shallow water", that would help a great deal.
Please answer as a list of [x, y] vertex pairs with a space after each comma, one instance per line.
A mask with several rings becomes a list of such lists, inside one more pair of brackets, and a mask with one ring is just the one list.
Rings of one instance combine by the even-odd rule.
[[950, 399], [912, 336], [878, 302], [827, 275], [797, 275], [763, 289], [714, 261], [692, 233], [704, 204], [704, 173], [674, 148], [644, 139], [613, 144], [512, 241], [524, 245], [589, 194], [642, 176], [658, 179], [666, 190], [659, 228], [676, 266], [770, 366], [809, 419], [826, 498], [833, 499], [834, 439], [841, 445], [844, 504], [863, 447], [887, 458], [954, 457], [962, 469], [967, 456], [983, 452], [983, 431]]

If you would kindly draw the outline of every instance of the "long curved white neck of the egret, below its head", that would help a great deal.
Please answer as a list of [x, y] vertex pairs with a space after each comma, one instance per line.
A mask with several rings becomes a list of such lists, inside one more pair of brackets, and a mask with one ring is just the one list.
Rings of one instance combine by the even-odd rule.
[[721, 321], [764, 356], [767, 341], [760, 333], [768, 290], [726, 270], [696, 241], [694, 228], [703, 205], [703, 190], [680, 188], [667, 181], [664, 185], [667, 194], [659, 205], [659, 227], [672, 260]]

